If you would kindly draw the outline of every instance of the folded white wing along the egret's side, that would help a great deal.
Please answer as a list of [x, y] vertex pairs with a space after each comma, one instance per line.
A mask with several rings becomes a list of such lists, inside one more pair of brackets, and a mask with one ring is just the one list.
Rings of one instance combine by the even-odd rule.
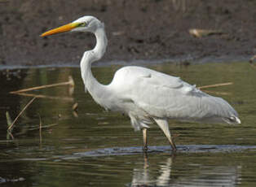
[[232, 109], [222, 98], [203, 93], [179, 77], [144, 67], [123, 67], [114, 81], [119, 84], [119, 95], [152, 117], [192, 120], [230, 115], [224, 114], [225, 109]]

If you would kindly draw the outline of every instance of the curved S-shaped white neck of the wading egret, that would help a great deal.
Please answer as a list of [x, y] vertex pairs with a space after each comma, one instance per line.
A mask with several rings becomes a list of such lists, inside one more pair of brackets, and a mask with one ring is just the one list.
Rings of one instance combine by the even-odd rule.
[[91, 63], [99, 60], [104, 55], [104, 52], [107, 48], [108, 40], [104, 32], [104, 26], [98, 28], [95, 31], [96, 37], [96, 46], [93, 50], [86, 51], [83, 54], [80, 67], [82, 80], [85, 84], [86, 90], [89, 91], [92, 98], [95, 99], [95, 102], [100, 104], [101, 99], [104, 97], [105, 86], [101, 85], [95, 77], [92, 75], [90, 70]]

